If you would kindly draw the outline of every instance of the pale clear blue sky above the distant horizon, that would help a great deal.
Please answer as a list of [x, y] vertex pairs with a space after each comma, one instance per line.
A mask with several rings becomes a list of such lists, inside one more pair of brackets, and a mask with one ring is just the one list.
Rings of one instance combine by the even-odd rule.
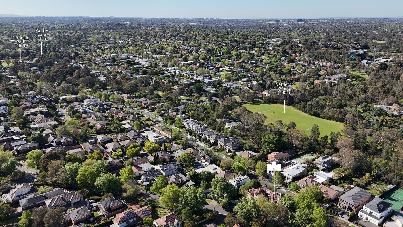
[[[17, 3], [17, 4], [16, 4]], [[403, 17], [402, 0], [19, 0], [0, 14], [154, 18]]]

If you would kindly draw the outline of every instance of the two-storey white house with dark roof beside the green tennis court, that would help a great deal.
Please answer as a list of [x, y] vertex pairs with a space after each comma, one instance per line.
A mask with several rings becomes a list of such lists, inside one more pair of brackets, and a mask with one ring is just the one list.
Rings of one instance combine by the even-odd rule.
[[383, 219], [391, 214], [393, 204], [386, 202], [385, 200], [375, 197], [373, 200], [368, 202], [364, 207], [358, 212], [358, 216], [364, 221], [369, 221], [375, 225], [380, 225]]

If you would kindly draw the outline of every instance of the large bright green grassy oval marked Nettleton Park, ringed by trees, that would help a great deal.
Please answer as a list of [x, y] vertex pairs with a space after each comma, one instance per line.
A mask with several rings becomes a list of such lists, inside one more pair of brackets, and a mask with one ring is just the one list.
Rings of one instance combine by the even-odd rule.
[[244, 106], [252, 113], [258, 112], [266, 115], [266, 124], [274, 123], [276, 120], [282, 120], [285, 124], [293, 121], [297, 124], [297, 129], [304, 130], [307, 135], [311, 134], [310, 129], [314, 124], [319, 126], [320, 136], [329, 135], [330, 132], [341, 132], [343, 129], [343, 123], [341, 122], [317, 118], [290, 106], [285, 107], [285, 113], [283, 112], [284, 105], [280, 104], [252, 103], [244, 104]]

